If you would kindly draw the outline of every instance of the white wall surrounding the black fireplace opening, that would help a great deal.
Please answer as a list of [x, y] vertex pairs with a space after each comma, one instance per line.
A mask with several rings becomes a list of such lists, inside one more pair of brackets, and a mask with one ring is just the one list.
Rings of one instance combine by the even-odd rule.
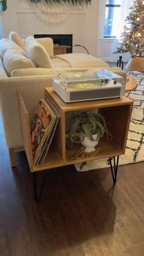
[[7, 0], [7, 6], [1, 13], [4, 37], [10, 31], [18, 32], [22, 38], [34, 34], [73, 34], [73, 45], [84, 45], [90, 54], [97, 56], [99, 0], [92, 0], [92, 5], [84, 8], [68, 5], [66, 14], [62, 14], [66, 19], [58, 23], [60, 15], [48, 15], [53, 17], [52, 23], [45, 21], [29, 0]]

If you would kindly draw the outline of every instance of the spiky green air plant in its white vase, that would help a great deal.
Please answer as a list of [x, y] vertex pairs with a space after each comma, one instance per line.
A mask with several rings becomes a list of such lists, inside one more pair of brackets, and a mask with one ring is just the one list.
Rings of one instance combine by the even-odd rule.
[[66, 137], [70, 148], [73, 143], [81, 143], [85, 146], [84, 152], [90, 153], [95, 151], [95, 146], [104, 134], [108, 138], [109, 131], [103, 115], [85, 111], [74, 117]]

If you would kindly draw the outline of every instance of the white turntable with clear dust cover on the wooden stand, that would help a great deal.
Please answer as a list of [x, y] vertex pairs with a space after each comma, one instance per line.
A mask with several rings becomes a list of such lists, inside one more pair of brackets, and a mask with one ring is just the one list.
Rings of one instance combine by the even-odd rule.
[[125, 90], [123, 77], [104, 68], [63, 70], [56, 73], [52, 86], [66, 103], [117, 98]]

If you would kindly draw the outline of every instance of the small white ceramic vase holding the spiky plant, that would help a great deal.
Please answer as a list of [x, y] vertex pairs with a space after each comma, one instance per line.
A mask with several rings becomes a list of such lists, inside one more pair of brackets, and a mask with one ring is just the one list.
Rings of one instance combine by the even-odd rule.
[[98, 141], [96, 141], [96, 138], [98, 136], [98, 134], [93, 134], [93, 139], [94, 141], [90, 141], [90, 139], [88, 139], [87, 137], [84, 137], [84, 140], [81, 142], [82, 145], [85, 146], [84, 152], [85, 153], [90, 153], [92, 151], [95, 152], [95, 146], [98, 144]]

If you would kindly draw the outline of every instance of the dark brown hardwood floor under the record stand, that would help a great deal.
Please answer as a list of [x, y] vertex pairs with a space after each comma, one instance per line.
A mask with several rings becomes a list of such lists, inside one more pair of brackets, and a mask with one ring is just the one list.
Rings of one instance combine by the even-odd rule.
[[12, 170], [0, 136], [1, 256], [144, 255], [144, 163], [120, 166], [114, 189], [109, 169], [49, 170], [37, 204], [25, 154]]

